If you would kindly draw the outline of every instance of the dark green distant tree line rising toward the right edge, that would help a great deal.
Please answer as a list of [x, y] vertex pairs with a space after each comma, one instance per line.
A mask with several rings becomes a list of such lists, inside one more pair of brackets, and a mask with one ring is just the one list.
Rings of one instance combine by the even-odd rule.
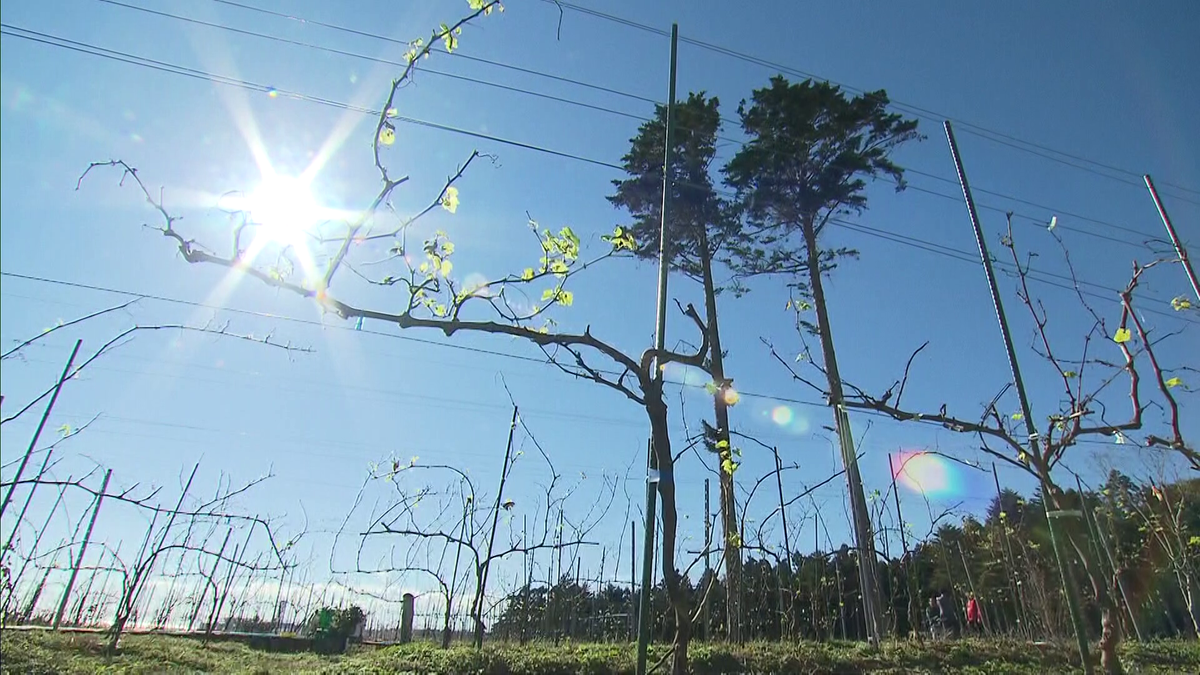
[[[1067, 527], [1080, 531], [1091, 550], [1081, 551], [1106, 572], [1111, 592], [1120, 598], [1120, 625], [1129, 639], [1195, 637], [1198, 573], [1200, 573], [1200, 478], [1175, 483], [1138, 484], [1111, 472], [1094, 491], [1075, 490], [1062, 501]], [[881, 546], [882, 549], [882, 546]], [[746, 551], [742, 603], [748, 611], [742, 634], [748, 639], [862, 640], [866, 627], [858, 601], [859, 583], [853, 549], [793, 552], [790, 561]], [[1003, 490], [994, 497], [983, 521], [972, 515], [938, 526], [932, 536], [912, 544], [907, 555], [877, 557], [876, 574], [886, 599], [886, 620], [898, 637], [928, 634], [924, 607], [946, 592], [953, 598], [952, 617], [965, 622], [965, 605], [973, 593], [983, 609], [989, 634], [1031, 639], [1067, 637], [1070, 621], [1055, 569], [1042, 495], [1024, 498]], [[713, 572], [688, 579], [695, 602]], [[1079, 574], [1080, 595], [1093, 597]], [[727, 639], [726, 586], [713, 580], [708, 591], [708, 622], [696, 622], [697, 638]], [[524, 586], [504, 603], [492, 637], [529, 640], [628, 640], [636, 615], [636, 595], [628, 585], [594, 584], [564, 575], [557, 585]], [[914, 601], [914, 602], [911, 602]], [[662, 584], [653, 589], [653, 635], [670, 640], [673, 615]], [[1102, 608], [1086, 605], [1096, 634]]]

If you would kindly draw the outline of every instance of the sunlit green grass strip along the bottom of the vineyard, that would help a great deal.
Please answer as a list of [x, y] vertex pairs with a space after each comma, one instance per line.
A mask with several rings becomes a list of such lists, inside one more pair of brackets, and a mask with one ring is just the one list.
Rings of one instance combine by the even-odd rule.
[[[344, 656], [282, 655], [254, 651], [239, 643], [208, 646], [188, 638], [130, 635], [121, 653], [108, 658], [91, 634], [5, 631], [0, 634], [0, 673], [7, 674], [149, 674], [149, 673], [308, 673], [308, 674], [473, 674], [473, 675], [623, 675], [634, 673], [631, 645], [497, 645], [440, 650], [431, 644], [385, 649], [361, 647]], [[652, 663], [664, 647], [652, 651]], [[697, 675], [772, 673], [852, 673], [967, 675], [1052, 675], [1079, 671], [1067, 645], [1031, 645], [997, 640], [926, 644], [889, 643], [872, 650], [859, 643], [755, 643], [743, 646], [695, 644]], [[1126, 644], [1122, 661], [1130, 674], [1200, 673], [1200, 643]]]

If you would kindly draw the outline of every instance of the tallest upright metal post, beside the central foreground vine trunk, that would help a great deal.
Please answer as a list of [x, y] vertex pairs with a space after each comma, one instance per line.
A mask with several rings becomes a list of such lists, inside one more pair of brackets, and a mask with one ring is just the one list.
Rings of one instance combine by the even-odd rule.
[[[654, 327], [654, 348], [661, 352], [666, 346], [667, 328], [667, 275], [671, 270], [670, 246], [667, 245], [667, 214], [671, 210], [671, 156], [674, 143], [674, 98], [676, 98], [676, 61], [679, 53], [679, 24], [671, 24], [671, 77], [667, 85], [667, 118], [662, 151], [662, 232], [659, 235], [659, 297], [658, 313]], [[658, 359], [654, 362], [653, 377], [662, 380], [662, 370]], [[646, 472], [646, 536], [642, 546], [642, 595], [637, 608], [637, 675], [646, 675], [646, 662], [650, 644], [650, 579], [654, 560], [654, 507], [655, 491], [661, 477], [658, 474], [653, 432], [649, 443], [649, 458]], [[672, 480], [673, 477], [667, 477]]]

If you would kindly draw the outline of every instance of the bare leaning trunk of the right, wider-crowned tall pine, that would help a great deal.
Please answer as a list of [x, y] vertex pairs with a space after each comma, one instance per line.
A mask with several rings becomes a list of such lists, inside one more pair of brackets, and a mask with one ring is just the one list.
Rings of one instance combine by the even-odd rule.
[[877, 644], [881, 637], [880, 593], [875, 583], [875, 538], [871, 533], [870, 514], [866, 510], [866, 496], [863, 494], [863, 479], [858, 473], [858, 459], [850, 438], [850, 418], [842, 408], [845, 399], [841, 388], [841, 375], [838, 372], [838, 354], [833, 348], [833, 329], [829, 325], [829, 311], [826, 306], [824, 286], [821, 280], [821, 250], [817, 249], [816, 223], [812, 216], [806, 216], [800, 229], [808, 250], [809, 289], [812, 292], [812, 305], [817, 313], [817, 329], [821, 338], [821, 356], [824, 360], [826, 380], [829, 386], [829, 406], [834, 410], [834, 424], [841, 447], [842, 465], [846, 468], [846, 485], [850, 490], [850, 507], [854, 527], [854, 543], [858, 552], [858, 579], [863, 599], [863, 619], [866, 622], [866, 635], [871, 644]]

